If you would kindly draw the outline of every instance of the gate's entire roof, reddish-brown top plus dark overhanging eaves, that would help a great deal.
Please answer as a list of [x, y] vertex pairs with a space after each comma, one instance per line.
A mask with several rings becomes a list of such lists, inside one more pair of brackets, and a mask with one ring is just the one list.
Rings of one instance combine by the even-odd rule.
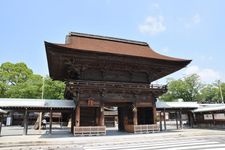
[[[55, 80], [63, 81], [70, 79], [72, 72], [76, 75], [77, 70], [79, 70], [79, 68], [75, 68], [75, 66], [71, 65], [76, 65], [76, 67], [84, 66], [84, 68], [95, 67], [97, 65], [97, 67], [103, 68], [105, 66], [100, 66], [99, 64], [101, 63], [99, 63], [99, 61], [103, 59], [107, 61], [108, 58], [110, 58], [110, 60], [107, 61], [106, 65], [108, 65], [109, 68], [115, 66], [111, 68], [112, 70], [118, 69], [116, 66], [119, 63], [123, 63], [124, 65], [130, 65], [129, 67], [135, 64], [133, 70], [135, 72], [149, 73], [150, 75], [148, 79], [146, 78], [146, 83], [171, 74], [191, 62], [191, 60], [158, 54], [153, 51], [146, 42], [76, 32], [71, 32], [66, 36], [65, 44], [45, 42], [45, 48], [50, 77]], [[120, 62], [110, 66], [110, 63], [115, 63], [118, 60], [117, 58], [119, 58]], [[75, 62], [71, 61], [77, 62], [74, 64]], [[78, 65], [78, 63], [81, 64]], [[92, 63], [96, 64], [92, 66]], [[69, 66], [74, 69], [72, 72], [68, 70]], [[124, 70], [126, 70], [126, 67]]]

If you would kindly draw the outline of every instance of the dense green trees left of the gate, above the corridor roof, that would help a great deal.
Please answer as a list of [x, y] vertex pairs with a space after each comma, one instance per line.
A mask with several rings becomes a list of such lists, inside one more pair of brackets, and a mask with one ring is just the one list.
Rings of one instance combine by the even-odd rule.
[[24, 63], [6, 62], [0, 66], [0, 97], [40, 99], [43, 90], [45, 99], [63, 99], [64, 89], [63, 82], [33, 74]]

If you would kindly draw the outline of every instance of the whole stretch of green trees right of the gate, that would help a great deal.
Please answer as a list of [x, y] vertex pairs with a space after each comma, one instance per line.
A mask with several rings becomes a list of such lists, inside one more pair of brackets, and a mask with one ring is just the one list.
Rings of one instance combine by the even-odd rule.
[[[221, 88], [221, 91], [220, 91]], [[168, 91], [160, 97], [164, 101], [197, 101], [200, 103], [221, 103], [225, 97], [225, 83], [202, 84], [199, 76], [192, 74], [183, 79], [168, 81]]]

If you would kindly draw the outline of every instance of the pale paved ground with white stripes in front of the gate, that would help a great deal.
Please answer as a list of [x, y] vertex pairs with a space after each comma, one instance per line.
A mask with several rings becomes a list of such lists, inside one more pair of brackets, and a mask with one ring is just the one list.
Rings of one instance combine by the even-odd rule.
[[28, 135], [0, 137], [2, 150], [186, 150], [224, 149], [225, 130], [185, 129], [153, 134], [71, 137]]

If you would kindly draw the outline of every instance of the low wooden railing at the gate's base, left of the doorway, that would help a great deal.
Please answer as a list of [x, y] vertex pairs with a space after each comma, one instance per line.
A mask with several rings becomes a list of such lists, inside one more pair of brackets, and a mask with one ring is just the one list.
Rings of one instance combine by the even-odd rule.
[[106, 135], [106, 127], [105, 126], [81, 126], [74, 127], [74, 135], [82, 136], [82, 135]]

